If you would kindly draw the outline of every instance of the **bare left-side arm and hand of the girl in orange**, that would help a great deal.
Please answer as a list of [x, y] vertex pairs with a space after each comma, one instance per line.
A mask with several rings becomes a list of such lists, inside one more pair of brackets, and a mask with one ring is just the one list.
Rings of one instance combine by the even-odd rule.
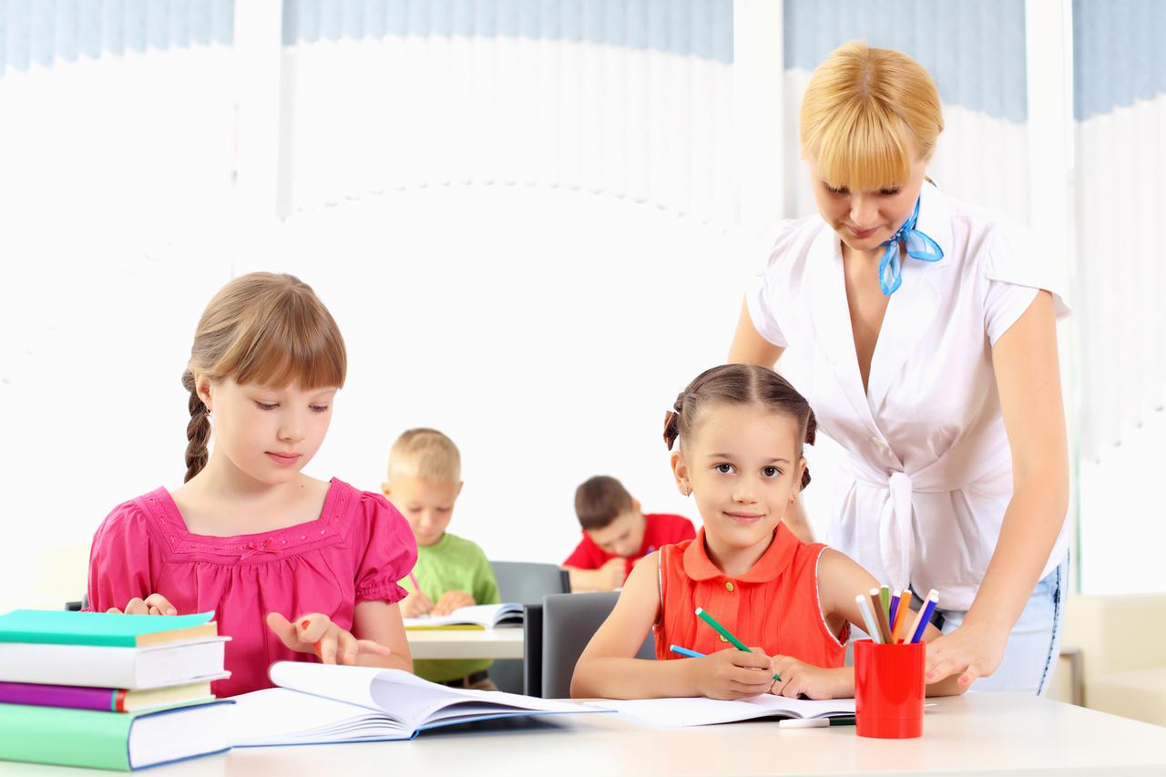
[[756, 696], [770, 687], [770, 658], [760, 650], [723, 650], [704, 658], [655, 662], [632, 658], [660, 617], [660, 554], [627, 578], [619, 601], [575, 665], [571, 696], [654, 699]]

